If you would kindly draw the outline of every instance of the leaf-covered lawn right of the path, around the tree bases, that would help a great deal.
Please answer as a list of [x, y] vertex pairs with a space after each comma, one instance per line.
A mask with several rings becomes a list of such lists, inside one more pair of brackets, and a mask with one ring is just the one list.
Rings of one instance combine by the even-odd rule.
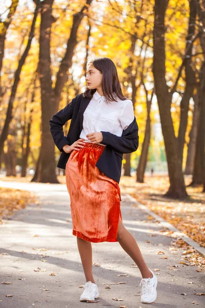
[[[188, 185], [190, 178], [185, 177]], [[121, 177], [120, 190], [127, 192], [154, 213], [174, 225], [187, 236], [205, 247], [205, 194], [202, 187], [187, 187], [189, 197], [174, 200], [163, 197], [169, 188], [169, 178], [146, 176], [145, 183], [136, 183], [136, 177]]]

